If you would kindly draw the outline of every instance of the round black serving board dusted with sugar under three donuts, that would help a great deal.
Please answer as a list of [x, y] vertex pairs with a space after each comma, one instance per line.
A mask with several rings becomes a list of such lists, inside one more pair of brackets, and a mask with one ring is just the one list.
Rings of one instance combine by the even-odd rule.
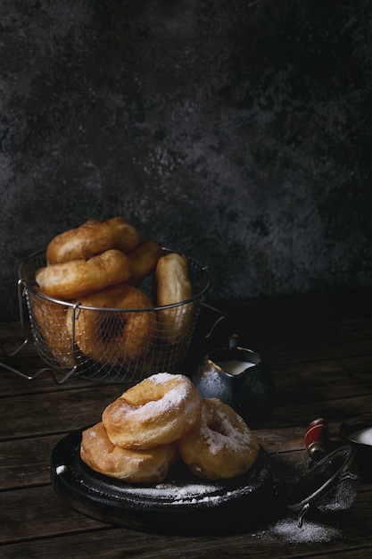
[[80, 513], [134, 530], [206, 533], [246, 530], [273, 509], [269, 456], [232, 480], [203, 480], [180, 461], [160, 484], [131, 485], [91, 470], [80, 459], [83, 430], [54, 447], [51, 481], [58, 496]]

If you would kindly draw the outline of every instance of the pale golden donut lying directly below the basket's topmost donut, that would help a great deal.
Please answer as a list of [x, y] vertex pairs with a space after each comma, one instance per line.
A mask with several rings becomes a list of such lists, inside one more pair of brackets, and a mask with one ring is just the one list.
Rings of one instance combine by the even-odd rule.
[[45, 295], [71, 301], [88, 293], [127, 281], [131, 261], [120, 250], [106, 250], [88, 260], [50, 264], [37, 270], [35, 279]]

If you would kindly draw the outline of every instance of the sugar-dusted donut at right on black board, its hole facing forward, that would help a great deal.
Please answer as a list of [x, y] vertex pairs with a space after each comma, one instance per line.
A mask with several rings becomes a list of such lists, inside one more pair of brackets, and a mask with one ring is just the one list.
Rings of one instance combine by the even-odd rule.
[[219, 398], [204, 398], [202, 421], [178, 440], [189, 470], [208, 480], [235, 478], [248, 471], [260, 446], [244, 420]]

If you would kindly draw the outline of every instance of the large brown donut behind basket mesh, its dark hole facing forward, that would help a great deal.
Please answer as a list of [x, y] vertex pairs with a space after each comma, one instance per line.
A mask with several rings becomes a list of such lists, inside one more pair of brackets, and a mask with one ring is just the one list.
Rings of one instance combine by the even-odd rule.
[[112, 366], [131, 364], [134, 368], [136, 360], [145, 357], [157, 331], [155, 313], [138, 309], [152, 307], [141, 289], [124, 283], [81, 297], [79, 307], [69, 309], [67, 327], [80, 351], [93, 361]]

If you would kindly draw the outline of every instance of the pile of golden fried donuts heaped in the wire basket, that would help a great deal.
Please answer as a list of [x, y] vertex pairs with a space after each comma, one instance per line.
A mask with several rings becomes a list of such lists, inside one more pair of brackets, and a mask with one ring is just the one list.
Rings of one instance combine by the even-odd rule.
[[[150, 275], [155, 301], [141, 288]], [[155, 338], [171, 345], [184, 337], [189, 314], [151, 309], [192, 296], [186, 256], [164, 253], [156, 239], [141, 238], [121, 217], [90, 219], [57, 235], [46, 247], [46, 265], [37, 270], [35, 280], [35, 291], [42, 296], [33, 305], [35, 320], [63, 367], [75, 364], [72, 339], [80, 355], [130, 368], [139, 357], [145, 359]]]

